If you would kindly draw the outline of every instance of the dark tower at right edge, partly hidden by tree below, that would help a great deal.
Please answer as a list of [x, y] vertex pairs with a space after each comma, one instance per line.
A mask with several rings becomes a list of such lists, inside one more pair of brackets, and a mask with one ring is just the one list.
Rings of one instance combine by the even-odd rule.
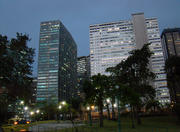
[[180, 56], [180, 28], [164, 29], [161, 34], [165, 59]]

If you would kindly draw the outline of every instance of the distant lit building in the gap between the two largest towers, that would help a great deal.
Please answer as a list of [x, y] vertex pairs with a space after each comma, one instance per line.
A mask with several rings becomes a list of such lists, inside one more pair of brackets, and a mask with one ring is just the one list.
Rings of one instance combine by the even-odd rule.
[[90, 56], [81, 56], [77, 59], [78, 95], [82, 93], [83, 83], [90, 77]]

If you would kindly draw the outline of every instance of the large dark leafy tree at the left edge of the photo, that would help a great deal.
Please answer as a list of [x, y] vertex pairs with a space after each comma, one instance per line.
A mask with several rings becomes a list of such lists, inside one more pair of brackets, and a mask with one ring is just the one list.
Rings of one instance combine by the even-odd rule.
[[[17, 99], [28, 103], [31, 96], [34, 49], [27, 46], [27, 35], [17, 33], [8, 40], [0, 35], [0, 90], [8, 96], [8, 104]], [[8, 107], [8, 105], [6, 105]]]

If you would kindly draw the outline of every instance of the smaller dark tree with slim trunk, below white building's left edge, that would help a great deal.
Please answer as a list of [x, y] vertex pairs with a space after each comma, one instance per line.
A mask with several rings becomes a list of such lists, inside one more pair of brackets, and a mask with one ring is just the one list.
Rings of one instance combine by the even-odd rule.
[[100, 127], [103, 127], [103, 102], [106, 99], [106, 87], [108, 87], [107, 76], [101, 74], [92, 76], [91, 80], [85, 81], [83, 85], [87, 103], [98, 106]]

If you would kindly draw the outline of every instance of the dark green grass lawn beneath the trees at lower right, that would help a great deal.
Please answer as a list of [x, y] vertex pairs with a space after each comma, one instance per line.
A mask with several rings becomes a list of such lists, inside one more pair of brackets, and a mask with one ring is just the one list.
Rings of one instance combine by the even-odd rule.
[[[131, 120], [129, 118], [121, 119], [122, 132], [180, 132], [180, 125], [177, 125], [175, 117], [144, 117], [142, 118], [142, 125], [135, 125], [136, 128], [131, 128]], [[117, 132], [117, 122], [104, 121], [104, 127], [100, 128], [98, 124], [92, 127], [83, 126], [78, 127], [78, 132]], [[72, 132], [71, 129], [59, 130], [58, 132]], [[75, 132], [75, 130], [73, 131]]]

